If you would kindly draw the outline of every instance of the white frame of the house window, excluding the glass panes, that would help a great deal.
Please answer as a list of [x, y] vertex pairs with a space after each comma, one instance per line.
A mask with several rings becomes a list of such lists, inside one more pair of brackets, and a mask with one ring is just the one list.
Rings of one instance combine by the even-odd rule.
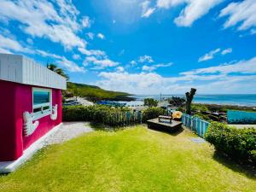
[[[34, 91], [49, 92], [49, 102], [34, 105]], [[49, 107], [49, 108], [46, 110], [43, 110], [44, 107]], [[36, 108], [41, 108], [41, 111], [34, 113], [34, 109], [36, 109]], [[33, 87], [32, 88], [32, 118], [33, 118], [33, 120], [38, 120], [38, 119], [44, 118], [45, 116], [50, 115], [51, 113], [52, 113], [52, 90]]]

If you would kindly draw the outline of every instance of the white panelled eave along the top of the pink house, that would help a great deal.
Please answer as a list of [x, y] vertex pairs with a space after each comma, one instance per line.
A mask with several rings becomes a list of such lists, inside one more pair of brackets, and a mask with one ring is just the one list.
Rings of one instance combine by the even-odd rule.
[[67, 79], [23, 55], [0, 54], [0, 80], [67, 90]]

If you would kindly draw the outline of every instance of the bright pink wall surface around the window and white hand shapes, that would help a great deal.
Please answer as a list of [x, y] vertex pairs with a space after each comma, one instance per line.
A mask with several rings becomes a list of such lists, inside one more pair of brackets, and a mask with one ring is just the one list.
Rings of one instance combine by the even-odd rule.
[[58, 118], [38, 119], [37, 130], [29, 137], [23, 135], [23, 113], [32, 113], [32, 87], [0, 80], [0, 161], [18, 159], [23, 150], [61, 123], [61, 90], [53, 89], [52, 104], [58, 104]]

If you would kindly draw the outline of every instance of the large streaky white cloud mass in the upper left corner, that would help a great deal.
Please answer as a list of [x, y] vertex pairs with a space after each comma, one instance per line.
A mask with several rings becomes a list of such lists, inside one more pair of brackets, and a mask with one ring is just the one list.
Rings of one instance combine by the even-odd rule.
[[[59, 11], [55, 10], [59, 7]], [[0, 17], [20, 22], [20, 29], [32, 37], [48, 38], [66, 49], [85, 47], [86, 42], [76, 34], [82, 28], [77, 22], [79, 11], [69, 0], [55, 5], [46, 0], [2, 0]]]

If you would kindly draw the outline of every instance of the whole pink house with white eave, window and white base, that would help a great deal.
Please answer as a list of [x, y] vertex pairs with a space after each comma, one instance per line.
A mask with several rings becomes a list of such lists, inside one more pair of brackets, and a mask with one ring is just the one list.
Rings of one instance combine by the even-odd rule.
[[61, 125], [66, 79], [22, 55], [0, 54], [0, 172], [13, 172]]

